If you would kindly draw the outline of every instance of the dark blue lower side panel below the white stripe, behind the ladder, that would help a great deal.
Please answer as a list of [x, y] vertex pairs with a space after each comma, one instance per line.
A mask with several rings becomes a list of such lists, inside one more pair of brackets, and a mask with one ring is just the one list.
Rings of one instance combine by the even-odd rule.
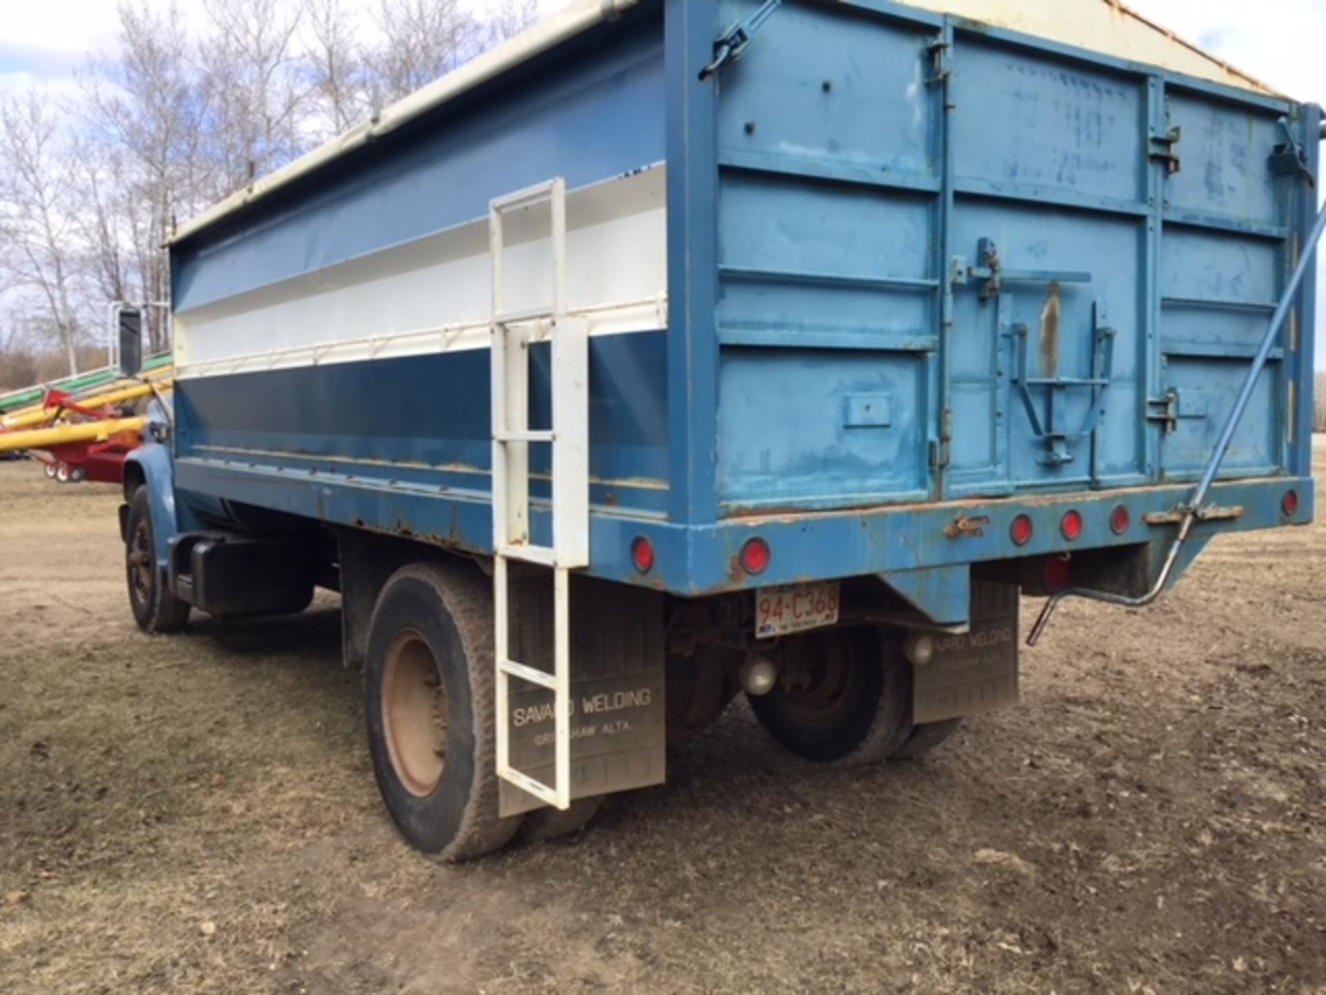
[[[590, 472], [626, 482], [597, 488], [603, 501], [662, 509], [666, 349], [662, 332], [590, 340]], [[487, 350], [183, 379], [178, 450], [487, 494], [489, 382]], [[548, 403], [546, 349], [534, 350], [530, 382], [537, 422]], [[530, 468], [546, 474], [540, 448]]]

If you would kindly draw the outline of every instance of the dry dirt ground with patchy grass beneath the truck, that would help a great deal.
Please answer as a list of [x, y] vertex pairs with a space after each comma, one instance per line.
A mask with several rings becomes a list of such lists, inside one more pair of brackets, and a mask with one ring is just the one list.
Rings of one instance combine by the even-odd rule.
[[1326, 525], [1066, 606], [928, 760], [733, 708], [590, 832], [448, 868], [381, 809], [335, 601], [141, 635], [115, 505], [0, 464], [3, 992], [1326, 992]]

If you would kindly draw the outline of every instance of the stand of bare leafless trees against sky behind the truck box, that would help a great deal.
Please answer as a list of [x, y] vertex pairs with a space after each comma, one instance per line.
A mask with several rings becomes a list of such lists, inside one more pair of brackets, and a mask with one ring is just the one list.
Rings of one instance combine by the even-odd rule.
[[[0, 321], [77, 365], [109, 301], [163, 304], [176, 218], [298, 157], [521, 31], [534, 0], [119, 0], [81, 93], [0, 98]], [[149, 308], [152, 352], [170, 346]]]

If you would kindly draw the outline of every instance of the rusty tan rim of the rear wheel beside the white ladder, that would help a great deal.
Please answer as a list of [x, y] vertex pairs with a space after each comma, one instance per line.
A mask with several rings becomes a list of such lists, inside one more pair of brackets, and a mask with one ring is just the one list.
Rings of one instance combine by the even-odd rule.
[[432, 649], [412, 629], [387, 650], [382, 724], [396, 777], [415, 797], [427, 797], [447, 767], [447, 689]]

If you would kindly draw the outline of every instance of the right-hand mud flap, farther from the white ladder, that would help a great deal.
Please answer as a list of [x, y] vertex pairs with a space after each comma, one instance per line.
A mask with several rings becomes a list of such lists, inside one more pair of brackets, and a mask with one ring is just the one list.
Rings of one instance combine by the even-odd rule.
[[936, 633], [934, 658], [914, 667], [912, 720], [956, 719], [1017, 702], [1017, 586], [972, 581], [972, 625]]

